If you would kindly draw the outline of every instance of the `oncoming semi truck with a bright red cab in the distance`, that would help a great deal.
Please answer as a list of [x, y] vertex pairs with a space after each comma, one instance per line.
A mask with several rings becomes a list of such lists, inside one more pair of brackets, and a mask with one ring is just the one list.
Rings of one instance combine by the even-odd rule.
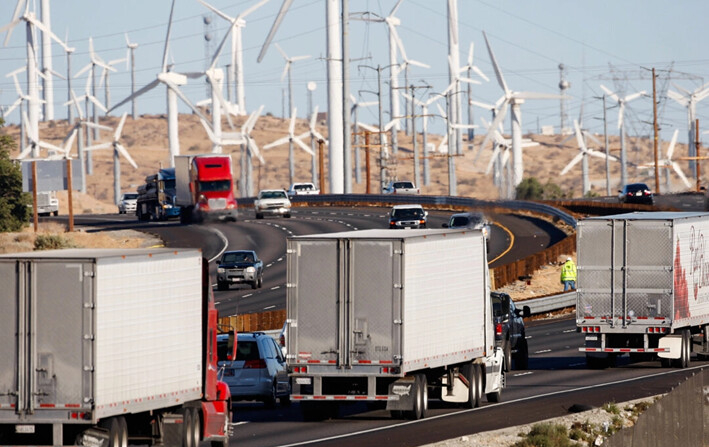
[[175, 156], [175, 187], [180, 223], [207, 219], [236, 222], [237, 203], [231, 156]]

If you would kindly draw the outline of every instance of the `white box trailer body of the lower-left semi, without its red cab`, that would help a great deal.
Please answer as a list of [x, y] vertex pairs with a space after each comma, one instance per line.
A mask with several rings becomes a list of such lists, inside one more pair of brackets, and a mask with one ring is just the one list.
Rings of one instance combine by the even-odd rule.
[[0, 396], [11, 410], [0, 419], [51, 422], [67, 408], [97, 419], [199, 399], [201, 262], [198, 250], [170, 249], [0, 256], [0, 278], [14, 284], [0, 290], [11, 310], [0, 349], [19, 352], [0, 366], [0, 387], [19, 390]]

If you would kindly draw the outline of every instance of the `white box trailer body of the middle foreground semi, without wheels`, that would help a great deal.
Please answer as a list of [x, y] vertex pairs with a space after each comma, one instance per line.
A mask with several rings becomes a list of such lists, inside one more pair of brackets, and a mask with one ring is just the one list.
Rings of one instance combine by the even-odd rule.
[[289, 362], [310, 372], [405, 373], [492, 344], [479, 231], [363, 230], [297, 236], [288, 248]]

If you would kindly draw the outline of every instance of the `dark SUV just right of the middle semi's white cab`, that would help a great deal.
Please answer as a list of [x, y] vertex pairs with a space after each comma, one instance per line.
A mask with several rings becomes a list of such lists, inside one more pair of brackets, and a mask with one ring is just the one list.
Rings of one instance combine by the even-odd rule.
[[512, 369], [513, 356], [515, 369], [527, 369], [529, 348], [522, 318], [529, 318], [531, 315], [529, 306], [518, 309], [506, 293], [491, 292], [490, 298], [495, 323], [495, 345], [501, 347], [505, 353], [505, 370]]

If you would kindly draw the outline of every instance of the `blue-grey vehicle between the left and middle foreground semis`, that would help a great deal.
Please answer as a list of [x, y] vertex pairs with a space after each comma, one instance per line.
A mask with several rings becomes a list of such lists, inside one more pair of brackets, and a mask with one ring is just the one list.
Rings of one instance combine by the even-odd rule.
[[286, 358], [276, 340], [263, 332], [237, 335], [236, 359], [226, 358], [229, 336], [217, 335], [221, 380], [229, 386], [232, 400], [260, 400], [268, 407], [290, 403]]

